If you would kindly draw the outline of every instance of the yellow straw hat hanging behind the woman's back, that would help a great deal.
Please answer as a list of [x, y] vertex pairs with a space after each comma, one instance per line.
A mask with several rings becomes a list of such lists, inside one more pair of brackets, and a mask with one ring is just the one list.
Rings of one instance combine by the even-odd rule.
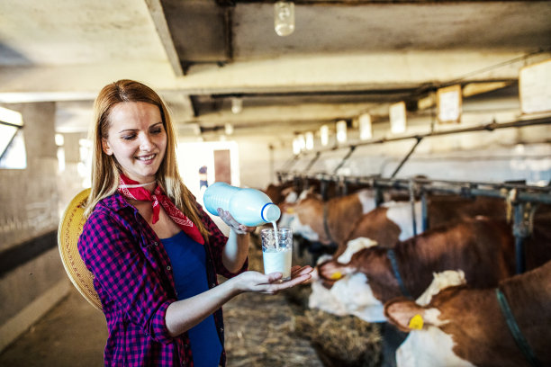
[[79, 192], [63, 213], [58, 229], [59, 254], [69, 279], [80, 294], [96, 309], [102, 309], [102, 302], [94, 289], [94, 274], [86, 268], [77, 248], [78, 237], [86, 222], [84, 207], [89, 194], [90, 189]]

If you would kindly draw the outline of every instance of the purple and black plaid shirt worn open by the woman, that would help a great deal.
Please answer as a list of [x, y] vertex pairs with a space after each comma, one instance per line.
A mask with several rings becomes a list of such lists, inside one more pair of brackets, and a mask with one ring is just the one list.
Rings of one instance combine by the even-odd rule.
[[[209, 288], [217, 273], [230, 273], [221, 263], [227, 238], [197, 204], [203, 224], [211, 233], [205, 244]], [[161, 241], [136, 208], [120, 193], [100, 201], [87, 219], [78, 239], [78, 251], [94, 273], [94, 286], [107, 320], [106, 366], [193, 366], [187, 333], [168, 335], [165, 315], [176, 291], [170, 261]], [[214, 312], [223, 347], [221, 309]], [[221, 365], [226, 354], [222, 351]]]

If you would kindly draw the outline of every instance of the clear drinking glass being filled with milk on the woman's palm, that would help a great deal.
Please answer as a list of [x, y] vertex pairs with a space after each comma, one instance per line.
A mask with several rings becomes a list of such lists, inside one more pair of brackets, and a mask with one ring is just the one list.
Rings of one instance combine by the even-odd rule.
[[262, 238], [262, 259], [264, 273], [283, 273], [283, 281], [291, 279], [291, 258], [293, 255], [293, 231], [290, 228], [265, 228]]

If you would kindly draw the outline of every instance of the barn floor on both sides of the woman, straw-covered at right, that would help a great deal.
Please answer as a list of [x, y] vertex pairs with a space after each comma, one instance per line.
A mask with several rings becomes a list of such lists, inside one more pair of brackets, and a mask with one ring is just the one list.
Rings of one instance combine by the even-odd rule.
[[[258, 269], [258, 253], [250, 253]], [[261, 265], [260, 265], [261, 266]], [[376, 367], [380, 330], [353, 317], [306, 308], [309, 286], [275, 296], [245, 293], [224, 306], [228, 366]], [[0, 366], [99, 366], [104, 315], [77, 291], [0, 354]]]

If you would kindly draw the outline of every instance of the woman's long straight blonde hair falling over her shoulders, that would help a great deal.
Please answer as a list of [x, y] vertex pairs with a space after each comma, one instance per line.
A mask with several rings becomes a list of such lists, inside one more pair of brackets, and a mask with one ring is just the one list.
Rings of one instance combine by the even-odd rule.
[[185, 216], [199, 228], [205, 240], [209, 232], [201, 221], [195, 207], [193, 194], [185, 187], [176, 165], [176, 133], [170, 120], [167, 106], [153, 89], [133, 80], [122, 79], [105, 85], [95, 99], [94, 125], [90, 130], [92, 147], [92, 187], [86, 203], [85, 215], [88, 217], [95, 205], [117, 191], [120, 180], [120, 168], [115, 157], [108, 156], [102, 149], [102, 139], [108, 138], [111, 125], [109, 121], [113, 106], [117, 103], [144, 102], [158, 107], [163, 125], [167, 131], [167, 150], [161, 165], [158, 167], [157, 182], [167, 196]]

